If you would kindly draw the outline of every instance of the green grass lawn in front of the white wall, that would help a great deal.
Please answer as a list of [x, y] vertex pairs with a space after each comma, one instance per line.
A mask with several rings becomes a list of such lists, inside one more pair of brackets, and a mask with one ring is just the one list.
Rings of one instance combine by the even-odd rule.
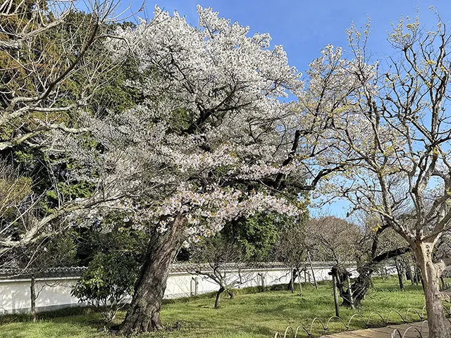
[[[365, 319], [371, 311], [381, 313], [384, 318], [392, 310], [405, 315], [407, 308], [416, 308], [420, 313], [424, 306], [424, 295], [421, 286], [410, 285], [405, 282], [406, 291], [400, 292], [397, 277], [390, 277], [382, 281], [374, 280], [374, 287], [367, 294], [362, 306], [357, 311], [340, 308], [340, 315], [345, 322], [354, 312], [361, 313]], [[221, 308], [215, 310], [212, 296], [199, 296], [197, 299], [178, 299], [168, 301], [163, 305], [161, 319], [168, 327], [176, 327], [172, 331], [143, 335], [142, 337], [218, 337], [218, 338], [263, 338], [274, 337], [276, 331], [283, 334], [288, 325], [310, 327], [311, 320], [319, 317], [327, 320], [335, 314], [333, 305], [333, 291], [330, 283], [304, 287], [302, 296], [287, 291], [268, 291], [255, 294], [237, 294], [235, 299], [228, 297], [221, 299]], [[67, 313], [82, 313], [64, 315], [58, 313], [43, 314], [38, 323], [31, 323], [27, 318], [22, 321], [7, 323], [11, 318], [4, 318], [0, 324], [0, 337], [5, 338], [104, 338], [111, 337], [108, 330], [104, 330], [104, 323], [98, 313], [88, 310], [66, 311]], [[60, 315], [60, 317], [57, 317]], [[125, 312], [120, 312], [116, 324], [121, 323]], [[52, 318], [55, 317], [55, 318]], [[380, 323], [376, 316], [373, 323]], [[18, 320], [18, 319], [16, 319]], [[419, 320], [409, 314], [408, 320]], [[401, 319], [393, 313], [390, 321], [401, 323]], [[356, 320], [353, 327], [364, 327], [360, 320]], [[315, 325], [320, 328], [321, 324]], [[331, 324], [329, 332], [344, 330], [342, 324]], [[321, 335], [323, 331], [318, 330]], [[301, 336], [304, 337], [304, 336]]]

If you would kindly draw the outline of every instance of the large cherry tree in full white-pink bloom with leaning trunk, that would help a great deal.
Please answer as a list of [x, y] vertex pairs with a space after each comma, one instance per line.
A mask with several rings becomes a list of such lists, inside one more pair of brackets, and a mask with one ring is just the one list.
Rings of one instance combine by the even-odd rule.
[[162, 327], [168, 264], [180, 244], [255, 212], [296, 215], [297, 194], [283, 190], [312, 189], [332, 171], [300, 164], [320, 146], [309, 148], [298, 130], [302, 114], [280, 101], [302, 90], [283, 48], [270, 49], [269, 35], [248, 36], [248, 27], [211, 8], [197, 12], [192, 27], [156, 7], [149, 23], [119, 28], [123, 39], [109, 44], [118, 61], [137, 61], [143, 76], [128, 85], [142, 103], [105, 117], [96, 134], [104, 151], [87, 163], [121, 158], [110, 170], [128, 173], [117, 180], [127, 196], [121, 203], [152, 233], [123, 334]]

